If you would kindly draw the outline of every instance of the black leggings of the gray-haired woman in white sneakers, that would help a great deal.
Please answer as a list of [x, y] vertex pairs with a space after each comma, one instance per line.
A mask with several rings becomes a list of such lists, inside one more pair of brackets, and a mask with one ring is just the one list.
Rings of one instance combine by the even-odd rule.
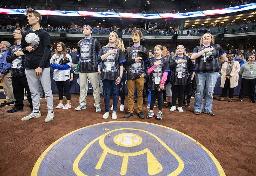
[[185, 86], [172, 85], [172, 105], [176, 106], [177, 94], [179, 107], [182, 107]]

